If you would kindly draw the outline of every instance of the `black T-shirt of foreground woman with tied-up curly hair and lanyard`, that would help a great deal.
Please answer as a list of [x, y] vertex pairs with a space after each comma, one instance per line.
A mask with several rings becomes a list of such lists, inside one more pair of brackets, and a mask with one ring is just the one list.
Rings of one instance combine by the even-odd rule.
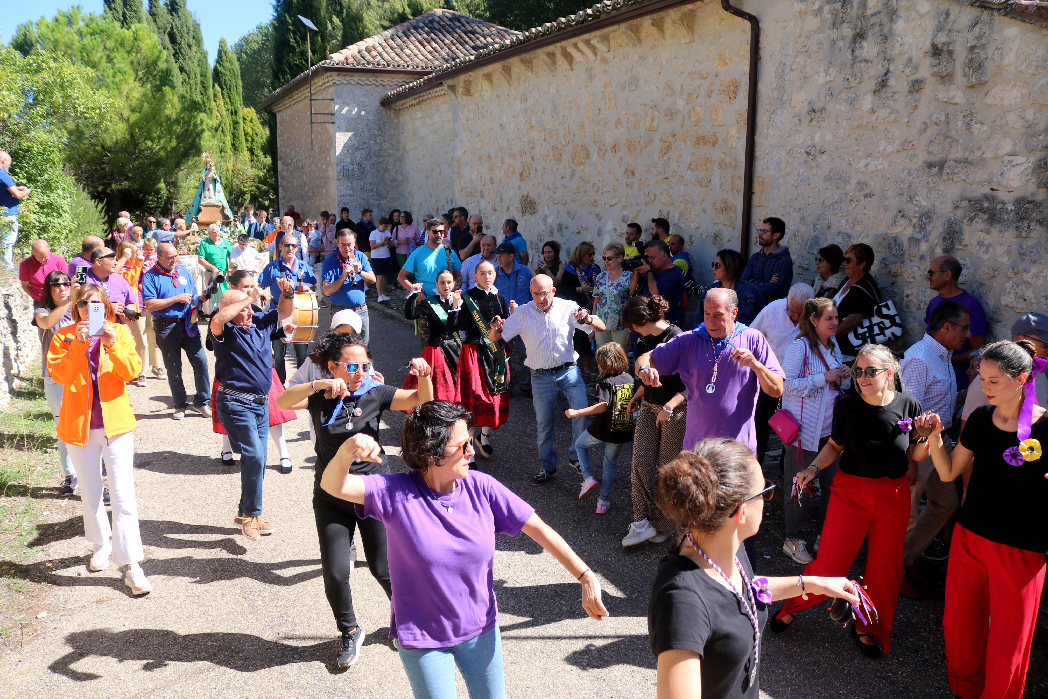
[[[740, 548], [738, 555], [752, 582], [754, 568], [746, 551]], [[748, 594], [746, 599], [748, 603]], [[768, 608], [759, 599], [757, 615], [764, 629]], [[739, 597], [686, 556], [670, 553], [659, 562], [648, 603], [648, 639], [656, 660], [664, 651], [699, 654], [703, 697], [760, 696], [760, 675], [752, 683], [749, 681], [754, 669], [752, 622]]]

